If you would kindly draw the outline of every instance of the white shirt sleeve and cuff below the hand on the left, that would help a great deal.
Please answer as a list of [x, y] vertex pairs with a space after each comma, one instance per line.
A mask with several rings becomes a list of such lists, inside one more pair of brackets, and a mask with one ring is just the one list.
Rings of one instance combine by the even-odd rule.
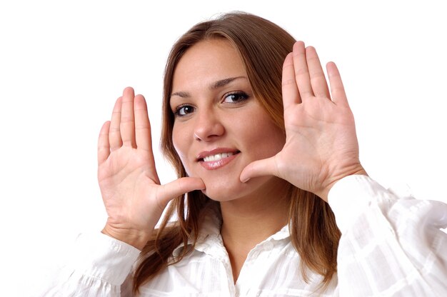
[[59, 269], [37, 296], [126, 296], [121, 292], [140, 251], [103, 233], [76, 238], [69, 263]]

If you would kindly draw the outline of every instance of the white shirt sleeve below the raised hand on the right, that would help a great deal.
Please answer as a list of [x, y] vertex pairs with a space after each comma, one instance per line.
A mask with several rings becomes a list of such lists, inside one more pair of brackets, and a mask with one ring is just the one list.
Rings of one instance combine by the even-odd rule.
[[368, 176], [328, 195], [342, 236], [340, 296], [447, 296], [447, 205], [398, 197]]

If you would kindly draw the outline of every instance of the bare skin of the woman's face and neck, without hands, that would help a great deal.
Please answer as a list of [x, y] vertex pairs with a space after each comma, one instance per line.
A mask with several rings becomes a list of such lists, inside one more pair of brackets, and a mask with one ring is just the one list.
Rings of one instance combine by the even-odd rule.
[[[248, 164], [281, 151], [286, 137], [253, 97], [243, 62], [228, 41], [201, 41], [186, 51], [172, 94], [171, 109], [182, 114], [174, 120], [174, 146], [188, 175], [201, 178], [204, 193], [221, 202], [221, 236], [236, 281], [248, 252], [286, 225], [288, 211], [286, 181], [261, 176], [243, 183], [239, 177]], [[215, 149], [238, 153], [224, 166], [204, 168], [197, 156]]]

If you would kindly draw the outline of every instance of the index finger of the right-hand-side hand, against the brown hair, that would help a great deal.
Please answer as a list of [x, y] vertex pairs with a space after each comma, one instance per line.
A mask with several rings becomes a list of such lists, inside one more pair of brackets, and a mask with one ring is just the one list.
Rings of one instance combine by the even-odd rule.
[[284, 59], [282, 88], [284, 109], [301, 103], [298, 87], [296, 86], [292, 53], [288, 54], [286, 59]]

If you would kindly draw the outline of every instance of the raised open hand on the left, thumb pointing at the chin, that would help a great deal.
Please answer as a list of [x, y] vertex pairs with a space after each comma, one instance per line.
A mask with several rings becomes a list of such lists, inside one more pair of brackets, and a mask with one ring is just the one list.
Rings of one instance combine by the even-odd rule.
[[171, 199], [205, 188], [201, 178], [190, 177], [160, 185], [146, 101], [130, 87], [101, 128], [98, 180], [108, 215], [102, 232], [140, 250]]

